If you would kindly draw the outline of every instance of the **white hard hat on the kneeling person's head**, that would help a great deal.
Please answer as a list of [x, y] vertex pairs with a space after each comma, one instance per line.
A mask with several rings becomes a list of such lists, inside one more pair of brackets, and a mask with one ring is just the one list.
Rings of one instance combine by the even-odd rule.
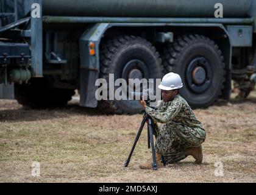
[[171, 91], [177, 90], [183, 87], [182, 79], [179, 74], [169, 73], [163, 77], [161, 85], [158, 86], [161, 90]]

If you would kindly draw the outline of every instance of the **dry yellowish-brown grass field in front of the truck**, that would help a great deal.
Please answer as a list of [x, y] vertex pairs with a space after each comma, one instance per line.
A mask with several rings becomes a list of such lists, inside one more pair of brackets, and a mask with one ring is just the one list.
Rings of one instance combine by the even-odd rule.
[[[195, 110], [207, 131], [204, 163], [188, 157], [158, 171], [139, 164], [151, 157], [146, 129], [128, 168], [123, 164], [141, 116], [102, 115], [70, 102], [56, 110], [25, 110], [0, 101], [0, 182], [256, 182], [256, 93]], [[32, 162], [40, 177], [32, 176]], [[223, 176], [216, 177], [221, 161]]]

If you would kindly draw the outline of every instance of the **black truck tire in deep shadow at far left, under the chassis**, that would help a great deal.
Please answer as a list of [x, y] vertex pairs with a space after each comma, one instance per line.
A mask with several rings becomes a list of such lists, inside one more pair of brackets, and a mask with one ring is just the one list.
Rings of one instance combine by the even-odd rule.
[[29, 84], [15, 84], [15, 99], [29, 108], [54, 108], [68, 104], [74, 90], [51, 88], [43, 79], [32, 79]]

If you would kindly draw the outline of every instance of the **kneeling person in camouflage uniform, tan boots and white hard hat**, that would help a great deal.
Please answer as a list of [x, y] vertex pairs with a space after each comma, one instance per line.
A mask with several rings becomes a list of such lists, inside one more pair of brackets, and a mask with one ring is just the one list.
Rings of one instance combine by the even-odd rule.
[[[141, 105], [155, 122], [163, 125], [156, 129], [155, 152], [158, 168], [165, 163], [177, 161], [192, 155], [196, 164], [202, 163], [202, 143], [206, 133], [201, 122], [198, 121], [187, 101], [179, 94], [183, 87], [179, 74], [169, 73], [163, 77], [161, 85], [163, 101], [153, 109], [141, 101]], [[142, 163], [141, 169], [152, 169], [152, 159]]]

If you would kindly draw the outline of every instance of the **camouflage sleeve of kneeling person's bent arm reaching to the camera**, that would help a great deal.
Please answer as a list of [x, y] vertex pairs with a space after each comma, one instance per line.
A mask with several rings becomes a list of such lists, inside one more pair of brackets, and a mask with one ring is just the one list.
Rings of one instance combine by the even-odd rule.
[[182, 108], [182, 102], [173, 101], [166, 110], [154, 110], [151, 107], [146, 107], [146, 113], [160, 123], [167, 123], [175, 118]]

